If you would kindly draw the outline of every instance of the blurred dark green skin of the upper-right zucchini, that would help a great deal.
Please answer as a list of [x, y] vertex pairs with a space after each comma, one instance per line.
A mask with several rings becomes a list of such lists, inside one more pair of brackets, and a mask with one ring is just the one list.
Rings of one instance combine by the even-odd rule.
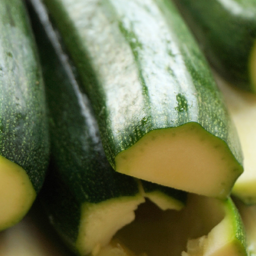
[[210, 64], [227, 81], [256, 93], [250, 55], [256, 43], [254, 0], [175, 0]]

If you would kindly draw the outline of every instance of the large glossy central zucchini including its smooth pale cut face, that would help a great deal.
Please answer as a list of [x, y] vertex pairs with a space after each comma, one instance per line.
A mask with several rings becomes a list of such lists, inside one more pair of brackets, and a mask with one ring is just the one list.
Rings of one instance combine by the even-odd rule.
[[239, 140], [207, 63], [169, 0], [44, 0], [76, 64], [111, 166], [226, 198]]

